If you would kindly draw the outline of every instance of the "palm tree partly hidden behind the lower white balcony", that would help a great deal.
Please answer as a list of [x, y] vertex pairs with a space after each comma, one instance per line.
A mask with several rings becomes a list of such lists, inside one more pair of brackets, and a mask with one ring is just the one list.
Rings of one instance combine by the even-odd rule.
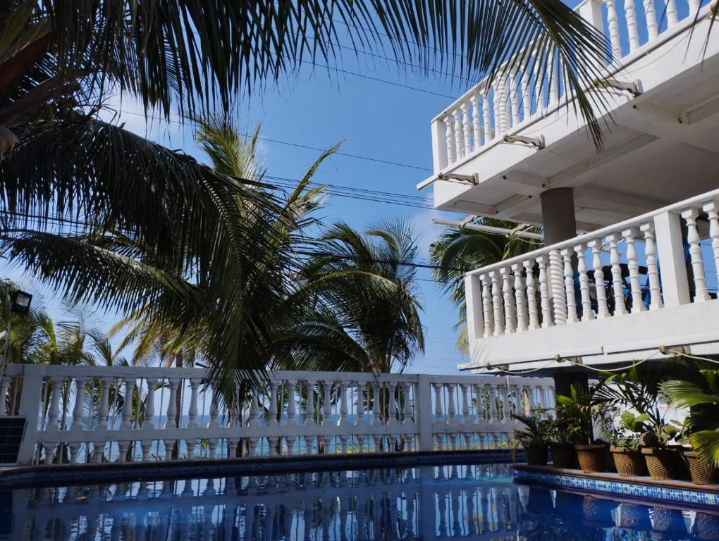
[[[496, 218], [477, 218], [480, 225], [514, 229], [517, 223]], [[531, 233], [538, 228], [526, 229]], [[429, 260], [434, 265], [432, 274], [440, 283], [440, 289], [449, 295], [459, 312], [454, 329], [459, 329], [457, 348], [465, 355], [469, 353], [467, 339], [467, 303], [464, 300], [464, 273], [510, 259], [541, 247], [541, 241], [516, 235], [504, 236], [469, 228], [446, 229], [439, 239], [431, 244]]]

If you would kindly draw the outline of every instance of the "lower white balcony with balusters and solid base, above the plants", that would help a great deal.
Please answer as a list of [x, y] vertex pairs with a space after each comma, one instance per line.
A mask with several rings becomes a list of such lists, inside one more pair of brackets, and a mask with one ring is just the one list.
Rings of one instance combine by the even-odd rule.
[[718, 263], [713, 190], [472, 271], [462, 368], [607, 365], [661, 359], [660, 346], [719, 353]]

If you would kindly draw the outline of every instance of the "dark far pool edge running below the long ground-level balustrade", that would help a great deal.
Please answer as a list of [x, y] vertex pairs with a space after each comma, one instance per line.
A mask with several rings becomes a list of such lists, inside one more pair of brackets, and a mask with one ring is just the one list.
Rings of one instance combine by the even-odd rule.
[[436, 464], [510, 463], [510, 450], [404, 451], [340, 455], [263, 456], [215, 460], [104, 462], [10, 466], [0, 469], [0, 487], [97, 484], [98, 482], [176, 479], [196, 476], [248, 476], [308, 471], [415, 468]]

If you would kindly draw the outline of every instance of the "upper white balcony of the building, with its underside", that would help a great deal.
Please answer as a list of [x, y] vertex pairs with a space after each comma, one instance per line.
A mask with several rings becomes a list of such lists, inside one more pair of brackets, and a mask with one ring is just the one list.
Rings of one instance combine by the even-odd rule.
[[[585, 0], [577, 7], [608, 37], [608, 77], [641, 91], [603, 90], [609, 105], [601, 111], [602, 152], [582, 131], [556, 76], [537, 85], [533, 73], [500, 70], [432, 121], [434, 173], [418, 187], [432, 185], [442, 210], [533, 224], [543, 222], [544, 190], [572, 188], [580, 231], [714, 188], [719, 32], [706, 39], [710, 6], [703, 4]], [[543, 137], [544, 148], [505, 142], [516, 135]], [[477, 185], [438, 180], [450, 172], [476, 175]]]

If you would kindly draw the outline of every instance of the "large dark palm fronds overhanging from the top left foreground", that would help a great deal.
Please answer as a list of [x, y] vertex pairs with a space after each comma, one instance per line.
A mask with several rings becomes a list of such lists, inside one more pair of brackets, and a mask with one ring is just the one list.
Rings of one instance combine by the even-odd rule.
[[[275, 270], [288, 263], [266, 259], [283, 238], [263, 218], [282, 204], [101, 121], [108, 96], [137, 98], [166, 119], [229, 111], [238, 93], [301, 63], [333, 62], [340, 31], [367, 51], [383, 50], [386, 34], [398, 61], [468, 78], [494, 75], [527, 46], [536, 54], [516, 55], [510, 70], [548, 79], [561, 57], [564, 88], [601, 140], [592, 100], [602, 94], [584, 89], [603, 76], [605, 38], [561, 0], [6, 0], [0, 21], [0, 251], [70, 300], [125, 315], [149, 307], [178, 328], [214, 303], [206, 353], [239, 376], [267, 359], [275, 314], [291, 298]], [[262, 302], [250, 305], [247, 292]]]

